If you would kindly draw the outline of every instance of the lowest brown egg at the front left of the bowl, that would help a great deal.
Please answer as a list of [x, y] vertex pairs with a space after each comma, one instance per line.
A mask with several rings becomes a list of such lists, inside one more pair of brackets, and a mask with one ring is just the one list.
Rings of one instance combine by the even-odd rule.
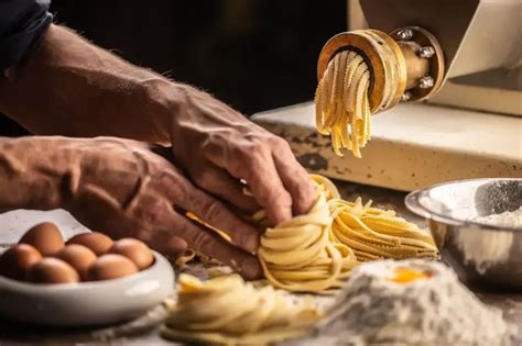
[[54, 257], [42, 258], [29, 268], [28, 281], [35, 283], [70, 283], [78, 282], [78, 272], [67, 263]]

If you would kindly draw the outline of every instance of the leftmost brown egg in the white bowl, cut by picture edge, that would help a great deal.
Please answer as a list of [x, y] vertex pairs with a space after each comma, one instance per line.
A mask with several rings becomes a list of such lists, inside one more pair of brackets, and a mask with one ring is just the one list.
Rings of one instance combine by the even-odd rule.
[[42, 255], [34, 246], [19, 244], [0, 256], [0, 275], [14, 280], [24, 280], [28, 269], [41, 259]]

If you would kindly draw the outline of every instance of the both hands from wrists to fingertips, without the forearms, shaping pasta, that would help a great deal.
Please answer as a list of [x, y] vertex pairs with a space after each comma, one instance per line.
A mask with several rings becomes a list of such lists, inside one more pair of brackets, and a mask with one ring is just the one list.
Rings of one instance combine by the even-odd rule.
[[[174, 255], [191, 247], [258, 278], [262, 271], [252, 253], [260, 231], [231, 210], [264, 209], [278, 224], [309, 210], [314, 187], [284, 139], [186, 88], [189, 104], [172, 123], [172, 148], [112, 137], [62, 139], [81, 157], [74, 168], [78, 186], [63, 207], [115, 237], [133, 236]], [[253, 197], [243, 193], [244, 182]], [[228, 232], [233, 244], [185, 211]]]

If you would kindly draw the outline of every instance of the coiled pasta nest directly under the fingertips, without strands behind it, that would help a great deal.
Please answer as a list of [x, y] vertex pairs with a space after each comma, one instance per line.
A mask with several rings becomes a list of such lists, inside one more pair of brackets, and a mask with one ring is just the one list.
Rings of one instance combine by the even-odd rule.
[[261, 236], [259, 259], [267, 279], [296, 292], [339, 288], [357, 265], [354, 252], [330, 241], [331, 216], [324, 192], [306, 215], [268, 228]]

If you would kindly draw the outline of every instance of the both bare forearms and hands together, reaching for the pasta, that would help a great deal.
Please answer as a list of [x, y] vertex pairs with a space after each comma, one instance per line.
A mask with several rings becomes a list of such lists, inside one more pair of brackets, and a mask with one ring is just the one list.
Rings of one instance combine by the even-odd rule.
[[[0, 209], [65, 208], [93, 230], [135, 236], [162, 252], [188, 246], [254, 278], [259, 233], [231, 209], [265, 209], [278, 224], [315, 201], [312, 181], [282, 138], [66, 27], [52, 24], [7, 77], [0, 78], [0, 112], [33, 133], [109, 135], [172, 149], [113, 137], [0, 138]], [[229, 232], [233, 245], [185, 211]]]

